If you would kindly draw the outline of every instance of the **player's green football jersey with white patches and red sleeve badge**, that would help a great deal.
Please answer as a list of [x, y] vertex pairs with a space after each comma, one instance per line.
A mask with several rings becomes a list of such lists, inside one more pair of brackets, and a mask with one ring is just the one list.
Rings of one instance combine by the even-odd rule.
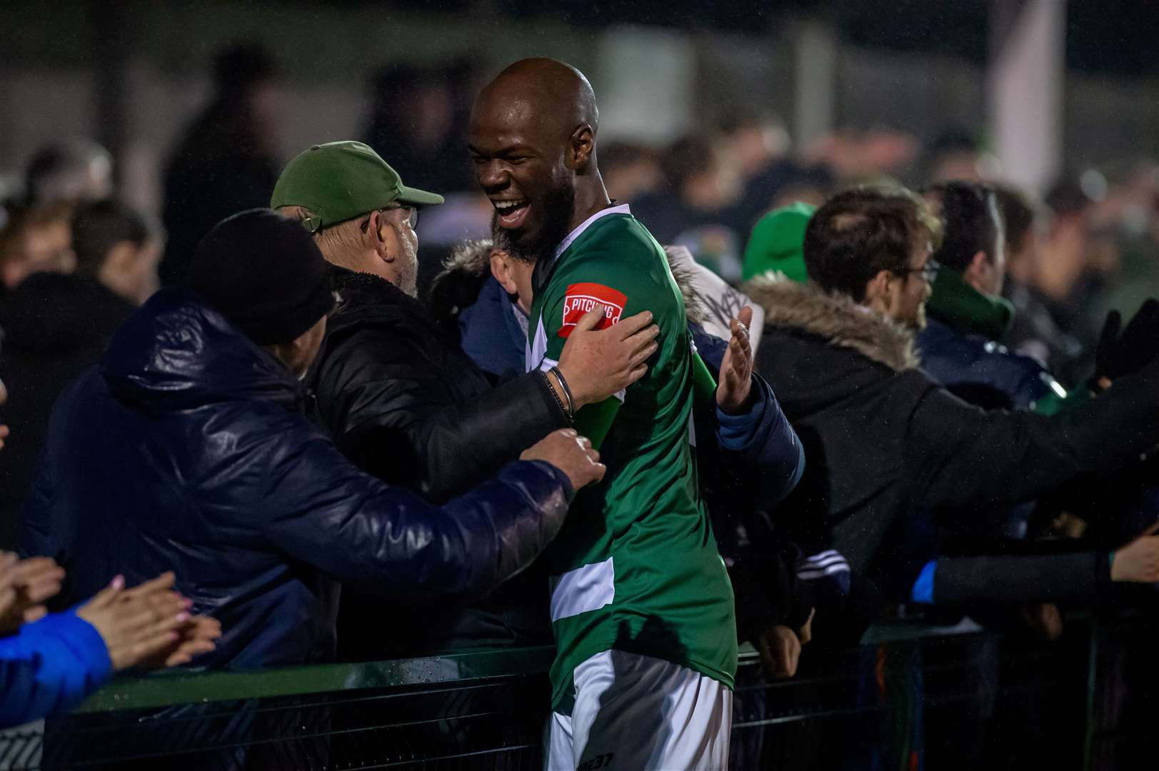
[[552, 704], [570, 712], [573, 670], [617, 648], [694, 669], [732, 688], [732, 588], [700, 501], [692, 341], [664, 250], [627, 211], [607, 209], [564, 241], [531, 308], [527, 369], [557, 363], [595, 303], [602, 328], [651, 311], [659, 349], [637, 383], [576, 415], [607, 474], [580, 492], [542, 560], [552, 574]]

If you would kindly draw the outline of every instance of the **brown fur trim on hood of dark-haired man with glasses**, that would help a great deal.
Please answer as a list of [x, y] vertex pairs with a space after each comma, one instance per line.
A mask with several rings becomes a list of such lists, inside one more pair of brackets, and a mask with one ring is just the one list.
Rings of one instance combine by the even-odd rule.
[[800, 329], [848, 348], [895, 372], [920, 365], [913, 333], [851, 298], [772, 275], [744, 285], [765, 311], [765, 327]]

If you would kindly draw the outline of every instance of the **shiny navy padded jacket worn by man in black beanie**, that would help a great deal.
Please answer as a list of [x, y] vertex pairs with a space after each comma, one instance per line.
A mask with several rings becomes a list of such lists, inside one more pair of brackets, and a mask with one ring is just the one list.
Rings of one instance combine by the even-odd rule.
[[[300, 384], [178, 290], [117, 332], [61, 395], [21, 547], [67, 572], [74, 603], [163, 570], [223, 638], [198, 663], [334, 655], [338, 582], [391, 604], [473, 597], [526, 567], [570, 486], [516, 461], [444, 507], [359, 472], [302, 414]], [[389, 448], [384, 448], [389, 452]]]

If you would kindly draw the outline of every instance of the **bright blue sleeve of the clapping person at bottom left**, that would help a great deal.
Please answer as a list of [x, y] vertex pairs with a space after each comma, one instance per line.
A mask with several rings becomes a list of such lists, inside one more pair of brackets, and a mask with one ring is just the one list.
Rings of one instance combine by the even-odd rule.
[[104, 640], [75, 611], [0, 639], [0, 728], [67, 712], [112, 674]]

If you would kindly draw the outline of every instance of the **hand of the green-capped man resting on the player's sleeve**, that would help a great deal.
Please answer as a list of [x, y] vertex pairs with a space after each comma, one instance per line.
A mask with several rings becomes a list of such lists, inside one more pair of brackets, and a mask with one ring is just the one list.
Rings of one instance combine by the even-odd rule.
[[642, 378], [648, 371], [644, 362], [658, 348], [659, 327], [651, 322], [650, 311], [621, 319], [607, 329], [596, 329], [606, 313], [599, 303], [584, 313], [560, 352], [560, 372], [568, 381], [576, 409], [604, 401]]

